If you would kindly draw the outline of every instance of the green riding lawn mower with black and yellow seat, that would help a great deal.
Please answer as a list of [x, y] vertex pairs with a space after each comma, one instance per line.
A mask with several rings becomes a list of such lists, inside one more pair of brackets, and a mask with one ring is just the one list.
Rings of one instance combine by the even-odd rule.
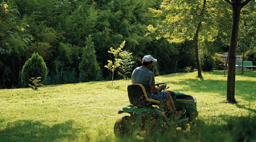
[[[156, 84], [156, 86], [165, 83]], [[116, 138], [132, 137], [136, 135], [150, 136], [160, 130], [161, 133], [169, 129], [179, 129], [186, 131], [199, 127], [204, 122], [196, 120], [198, 111], [196, 109], [196, 98], [184, 93], [171, 93], [177, 111], [186, 109], [185, 115], [178, 120], [174, 119], [171, 109], [166, 103], [149, 99], [144, 86], [131, 84], [127, 87], [128, 97], [131, 105], [118, 111], [118, 114], [129, 113], [130, 116], [122, 116], [116, 120], [114, 133]], [[161, 90], [160, 90], [161, 91]], [[158, 106], [158, 107], [156, 107]], [[199, 122], [200, 121], [200, 122]]]

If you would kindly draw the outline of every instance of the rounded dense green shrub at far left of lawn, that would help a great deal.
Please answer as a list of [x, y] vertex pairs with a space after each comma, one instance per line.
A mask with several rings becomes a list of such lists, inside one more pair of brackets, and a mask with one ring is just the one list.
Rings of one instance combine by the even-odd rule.
[[42, 56], [38, 55], [38, 53], [33, 53], [31, 58], [23, 66], [21, 71], [21, 80], [25, 83], [29, 83], [30, 78], [41, 77], [41, 81], [43, 82], [46, 78], [47, 67], [44, 63], [44, 59]]

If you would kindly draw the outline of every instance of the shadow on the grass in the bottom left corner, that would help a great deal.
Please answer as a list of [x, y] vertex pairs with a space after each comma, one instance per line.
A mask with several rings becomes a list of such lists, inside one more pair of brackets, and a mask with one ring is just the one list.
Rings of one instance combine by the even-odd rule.
[[[1, 120], [0, 120], [1, 122]], [[55, 123], [55, 122], [50, 122]], [[5, 129], [0, 130], [0, 141], [63, 141], [75, 139], [77, 129], [72, 128], [72, 121], [51, 126], [39, 121], [19, 120], [7, 123]]]

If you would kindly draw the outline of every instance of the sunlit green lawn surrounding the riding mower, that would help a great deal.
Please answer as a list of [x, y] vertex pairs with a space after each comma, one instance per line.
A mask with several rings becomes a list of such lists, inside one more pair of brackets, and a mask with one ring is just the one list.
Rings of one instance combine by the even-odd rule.
[[[221, 75], [220, 75], [221, 74]], [[256, 71], [236, 74], [237, 104], [227, 103], [222, 71], [176, 73], [156, 77], [169, 90], [197, 99], [198, 119], [225, 125], [256, 114]], [[49, 85], [0, 90], [0, 141], [116, 141], [113, 126], [119, 109], [129, 105], [130, 80]]]

